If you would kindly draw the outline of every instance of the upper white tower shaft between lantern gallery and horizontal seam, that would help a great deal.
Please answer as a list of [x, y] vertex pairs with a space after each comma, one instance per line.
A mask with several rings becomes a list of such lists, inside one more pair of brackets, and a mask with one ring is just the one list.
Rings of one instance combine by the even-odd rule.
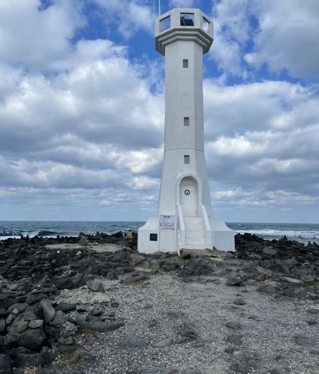
[[202, 47], [190, 40], [165, 47], [165, 152], [204, 151], [202, 56]]

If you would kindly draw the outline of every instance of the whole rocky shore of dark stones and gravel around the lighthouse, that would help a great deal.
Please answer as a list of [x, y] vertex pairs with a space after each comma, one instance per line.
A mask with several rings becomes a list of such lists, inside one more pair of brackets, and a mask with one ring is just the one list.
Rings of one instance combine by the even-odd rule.
[[[235, 240], [235, 252], [184, 250], [180, 256], [142, 255], [137, 236], [121, 232], [1, 241], [0, 374], [319, 373], [319, 245], [250, 234]], [[213, 303], [222, 327], [209, 319], [206, 328], [195, 323], [208, 313], [197, 310], [201, 302]], [[261, 358], [245, 346], [245, 323], [229, 318], [240, 313], [250, 324], [258, 303], [268, 310], [273, 302], [272, 310], [280, 303], [289, 310], [280, 326], [291, 326], [296, 308], [305, 312], [289, 343], [276, 338], [291, 353], [278, 360], [272, 350]], [[263, 346], [262, 333], [255, 333], [248, 335], [260, 334]], [[207, 364], [198, 361], [198, 350], [210, 358], [220, 352]], [[296, 363], [300, 355], [307, 360]]]

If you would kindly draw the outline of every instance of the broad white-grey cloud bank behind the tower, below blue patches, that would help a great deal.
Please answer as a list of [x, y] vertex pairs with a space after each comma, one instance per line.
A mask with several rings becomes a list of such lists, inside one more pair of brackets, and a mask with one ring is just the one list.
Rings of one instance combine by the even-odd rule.
[[[69, 194], [76, 206], [143, 202], [140, 214], [155, 212], [163, 95], [150, 92], [139, 70], [116, 48], [53, 77], [5, 70], [2, 198], [26, 200], [33, 191], [39, 205], [54, 205]], [[283, 207], [289, 201], [318, 205], [316, 88], [275, 81], [224, 87], [205, 80], [204, 98], [213, 206], [271, 207], [277, 196], [284, 196]]]

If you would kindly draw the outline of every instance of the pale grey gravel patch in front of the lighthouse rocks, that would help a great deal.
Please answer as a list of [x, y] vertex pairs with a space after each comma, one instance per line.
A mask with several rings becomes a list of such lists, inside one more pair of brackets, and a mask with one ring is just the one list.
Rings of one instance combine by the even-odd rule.
[[[282, 368], [291, 374], [319, 374], [319, 356], [311, 353], [319, 350], [319, 325], [310, 326], [309, 319], [318, 315], [307, 312], [318, 308], [314, 301], [274, 298], [261, 294], [258, 285], [234, 287], [226, 285], [226, 278], [205, 277], [206, 284], [181, 283], [175, 273], [156, 274], [143, 285], [125, 285], [101, 278], [106, 300], [119, 303], [118, 308], [104, 304], [106, 310], [116, 311], [125, 326], [110, 333], [97, 333], [96, 337], [79, 337], [81, 347], [96, 357], [87, 368], [94, 374], [227, 374], [239, 363], [239, 373], [269, 374]], [[83, 290], [76, 295], [61, 294], [61, 300], [77, 303], [87, 302]], [[245, 305], [235, 305], [234, 300], [242, 296]], [[105, 301], [106, 301], [105, 300]], [[98, 305], [98, 304], [96, 304]], [[154, 322], [154, 327], [149, 327]], [[241, 329], [225, 326], [237, 322]], [[198, 338], [177, 344], [180, 331], [188, 327]], [[242, 335], [242, 343], [228, 343], [234, 334]], [[308, 346], [298, 345], [297, 334], [307, 335], [312, 342]], [[128, 351], [121, 348], [127, 335], [134, 335], [144, 343], [140, 349]], [[173, 338], [171, 345], [155, 348], [153, 344]], [[233, 337], [240, 339], [238, 336]], [[141, 342], [140, 342], [141, 343]], [[224, 352], [234, 348], [233, 353]], [[233, 366], [233, 368], [236, 366]], [[248, 368], [248, 369], [247, 369]]]

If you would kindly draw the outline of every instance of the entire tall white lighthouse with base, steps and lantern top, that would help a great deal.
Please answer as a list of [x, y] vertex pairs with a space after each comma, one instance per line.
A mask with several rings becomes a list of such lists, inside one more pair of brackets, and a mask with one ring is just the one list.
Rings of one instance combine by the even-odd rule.
[[212, 217], [204, 155], [203, 54], [213, 21], [199, 9], [174, 8], [156, 19], [165, 56], [165, 140], [159, 211], [139, 229], [143, 253], [234, 250], [234, 232]]

